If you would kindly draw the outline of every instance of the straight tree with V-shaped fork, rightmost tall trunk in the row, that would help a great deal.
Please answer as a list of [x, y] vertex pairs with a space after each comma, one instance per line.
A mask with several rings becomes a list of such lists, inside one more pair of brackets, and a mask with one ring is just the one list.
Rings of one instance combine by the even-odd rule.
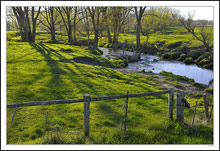
[[137, 32], [136, 32], [136, 43], [137, 43], [137, 49], [140, 48], [140, 30], [141, 30], [141, 19], [144, 15], [144, 11], [147, 7], [134, 7], [135, 15], [136, 15], [136, 21], [137, 21]]

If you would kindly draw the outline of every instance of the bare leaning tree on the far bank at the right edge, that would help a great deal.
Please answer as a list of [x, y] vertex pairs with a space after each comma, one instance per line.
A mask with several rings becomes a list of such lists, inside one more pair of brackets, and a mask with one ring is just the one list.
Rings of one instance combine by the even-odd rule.
[[193, 20], [192, 14], [189, 13], [187, 18], [180, 16], [179, 20], [189, 33], [191, 33], [197, 40], [203, 43], [206, 51], [211, 50], [213, 42], [213, 29], [212, 27], [206, 26], [208, 21], [205, 25], [200, 26], [200, 29], [198, 30], [198, 32], [196, 32], [196, 24]]

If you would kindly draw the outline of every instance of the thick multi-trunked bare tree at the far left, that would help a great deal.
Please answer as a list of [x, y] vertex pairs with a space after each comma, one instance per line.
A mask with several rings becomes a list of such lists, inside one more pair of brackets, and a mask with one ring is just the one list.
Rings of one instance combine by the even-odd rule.
[[19, 25], [22, 41], [35, 42], [37, 18], [40, 14], [40, 9], [41, 7], [38, 8], [37, 14], [35, 15], [35, 7], [31, 7], [30, 21], [29, 7], [12, 7], [13, 13]]

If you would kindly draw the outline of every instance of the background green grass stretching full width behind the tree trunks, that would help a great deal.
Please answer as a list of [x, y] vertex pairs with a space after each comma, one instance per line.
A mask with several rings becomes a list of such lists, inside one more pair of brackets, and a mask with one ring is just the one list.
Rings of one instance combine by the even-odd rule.
[[[196, 27], [195, 32], [198, 33], [201, 27]], [[208, 28], [213, 28], [209, 26]], [[8, 32], [8, 40], [19, 41], [20, 36], [18, 32]], [[36, 35], [37, 42], [50, 43], [50, 35], [46, 31], [38, 31]], [[64, 33], [57, 32], [57, 43], [68, 44], [68, 37]], [[86, 33], [80, 35], [77, 33], [77, 45], [87, 45]], [[94, 35], [90, 34], [89, 41], [92, 43]], [[147, 36], [141, 35], [140, 42], [144, 45]], [[126, 42], [125, 50], [132, 51], [132, 46], [136, 46], [136, 34], [120, 33], [118, 41], [120, 43]], [[192, 34], [188, 33], [184, 27], [168, 27], [166, 32], [156, 32], [149, 35], [149, 43], [143, 46], [143, 53], [150, 53], [158, 55], [161, 59], [178, 60], [186, 64], [197, 64], [202, 68], [213, 69], [213, 49], [207, 52], [202, 42], [195, 39]], [[108, 43], [107, 36], [99, 39], [100, 47], [113, 47], [112, 43]]]

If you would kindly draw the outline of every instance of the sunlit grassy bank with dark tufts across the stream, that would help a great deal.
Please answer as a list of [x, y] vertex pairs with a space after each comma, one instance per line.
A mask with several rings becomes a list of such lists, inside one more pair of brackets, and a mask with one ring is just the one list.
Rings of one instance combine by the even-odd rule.
[[[196, 28], [196, 33], [199, 32]], [[213, 27], [208, 27], [213, 28]], [[213, 49], [209, 52], [205, 50], [203, 43], [195, 39], [183, 27], [169, 27], [166, 33], [156, 32], [149, 35], [149, 43], [144, 45], [147, 36], [141, 35], [140, 41], [143, 45], [142, 52], [158, 55], [161, 59], [178, 60], [186, 64], [197, 64], [202, 68], [213, 69]], [[136, 35], [121, 34], [119, 42], [136, 45]], [[108, 39], [103, 37], [100, 46], [112, 47], [108, 44]], [[132, 51], [132, 47], [127, 45], [125, 50]]]

